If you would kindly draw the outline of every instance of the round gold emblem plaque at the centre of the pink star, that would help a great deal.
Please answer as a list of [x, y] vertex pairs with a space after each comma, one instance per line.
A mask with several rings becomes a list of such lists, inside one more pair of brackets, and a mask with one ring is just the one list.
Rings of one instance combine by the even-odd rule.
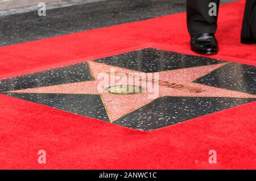
[[107, 87], [106, 92], [112, 94], [137, 94], [142, 92], [142, 87], [134, 86], [134, 85], [119, 85]]

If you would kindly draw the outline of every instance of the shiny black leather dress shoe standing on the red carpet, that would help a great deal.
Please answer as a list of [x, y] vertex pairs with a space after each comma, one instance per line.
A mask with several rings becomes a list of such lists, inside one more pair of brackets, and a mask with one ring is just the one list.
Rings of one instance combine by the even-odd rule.
[[199, 54], [218, 53], [218, 43], [213, 33], [201, 33], [191, 37], [191, 50]]

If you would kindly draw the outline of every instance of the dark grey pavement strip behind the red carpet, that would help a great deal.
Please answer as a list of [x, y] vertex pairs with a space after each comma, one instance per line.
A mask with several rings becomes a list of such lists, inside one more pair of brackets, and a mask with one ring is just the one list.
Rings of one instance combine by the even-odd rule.
[[[223, 0], [221, 3], [236, 0]], [[0, 47], [185, 11], [185, 0], [65, 0], [0, 12]], [[11, 14], [11, 15], [9, 15]], [[111, 18], [109, 18], [111, 17]]]

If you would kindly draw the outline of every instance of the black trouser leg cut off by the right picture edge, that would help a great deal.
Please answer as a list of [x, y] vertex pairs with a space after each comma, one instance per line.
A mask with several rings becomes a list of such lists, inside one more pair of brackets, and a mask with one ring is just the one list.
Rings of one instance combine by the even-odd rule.
[[253, 43], [256, 36], [256, 0], [246, 0], [241, 33], [242, 43]]

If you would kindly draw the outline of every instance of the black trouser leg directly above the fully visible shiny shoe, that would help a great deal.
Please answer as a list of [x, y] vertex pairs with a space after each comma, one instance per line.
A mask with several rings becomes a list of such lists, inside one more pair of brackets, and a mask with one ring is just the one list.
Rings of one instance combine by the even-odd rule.
[[187, 27], [191, 36], [216, 32], [217, 16], [209, 15], [211, 2], [216, 3], [218, 12], [220, 0], [187, 0]]

